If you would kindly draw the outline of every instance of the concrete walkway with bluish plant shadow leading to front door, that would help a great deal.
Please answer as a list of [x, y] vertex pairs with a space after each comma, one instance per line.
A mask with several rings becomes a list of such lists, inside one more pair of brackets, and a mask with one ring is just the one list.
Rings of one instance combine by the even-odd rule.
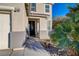
[[50, 56], [49, 52], [47, 52], [44, 47], [39, 42], [38, 38], [27, 38], [24, 47], [25, 47], [25, 56]]

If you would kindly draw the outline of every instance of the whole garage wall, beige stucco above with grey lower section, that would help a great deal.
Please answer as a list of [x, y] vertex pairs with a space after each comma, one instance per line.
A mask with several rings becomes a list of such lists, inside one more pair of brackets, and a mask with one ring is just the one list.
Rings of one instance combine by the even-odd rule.
[[25, 12], [24, 3], [0, 3], [0, 6], [14, 7], [19, 11], [12, 11], [12, 32], [10, 39], [10, 48], [22, 47], [25, 40], [25, 27], [27, 27], [28, 19]]

